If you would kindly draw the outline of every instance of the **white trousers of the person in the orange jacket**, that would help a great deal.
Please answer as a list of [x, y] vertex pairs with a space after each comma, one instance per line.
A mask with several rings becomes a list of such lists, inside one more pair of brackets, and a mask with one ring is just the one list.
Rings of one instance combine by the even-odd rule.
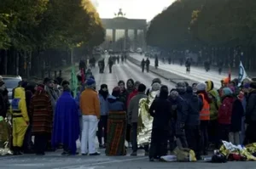
[[83, 130], [81, 139], [81, 153], [96, 153], [95, 137], [98, 119], [96, 115], [83, 115]]

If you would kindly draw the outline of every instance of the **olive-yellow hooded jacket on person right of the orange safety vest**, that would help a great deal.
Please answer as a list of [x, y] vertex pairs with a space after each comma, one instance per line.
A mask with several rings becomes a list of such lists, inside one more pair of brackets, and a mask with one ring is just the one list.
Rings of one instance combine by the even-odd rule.
[[212, 81], [207, 81], [207, 93], [212, 99], [212, 104], [210, 104], [210, 120], [217, 120], [218, 118], [218, 108], [221, 104], [218, 91], [214, 89], [214, 84]]

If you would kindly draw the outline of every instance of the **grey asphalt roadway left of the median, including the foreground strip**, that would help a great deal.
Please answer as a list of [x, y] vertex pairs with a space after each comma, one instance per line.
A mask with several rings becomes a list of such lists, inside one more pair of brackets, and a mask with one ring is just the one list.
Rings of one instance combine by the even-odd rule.
[[[108, 59], [108, 56], [106, 56]], [[107, 60], [106, 59], [106, 60]], [[113, 65], [113, 73], [108, 73], [108, 67], [104, 74], [97, 74], [98, 68], [93, 70], [96, 77], [97, 88], [102, 83], [108, 84], [109, 91], [115, 87], [119, 80], [126, 81], [133, 78], [143, 82], [150, 87], [153, 78], [157, 77], [152, 73], [142, 73], [137, 65], [130, 62], [124, 65]], [[163, 84], [174, 87], [172, 83], [160, 78]], [[78, 143], [79, 146], [79, 143]], [[212, 164], [208, 162], [178, 163], [178, 162], [149, 162], [148, 157], [143, 156], [143, 150], [138, 151], [137, 157], [130, 156], [131, 149], [127, 149], [126, 156], [106, 156], [104, 149], [99, 149], [102, 155], [81, 156], [81, 155], [61, 155], [61, 150], [47, 152], [44, 156], [20, 155], [20, 156], [0, 156], [0, 169], [254, 169], [254, 162], [228, 162], [225, 164]]]

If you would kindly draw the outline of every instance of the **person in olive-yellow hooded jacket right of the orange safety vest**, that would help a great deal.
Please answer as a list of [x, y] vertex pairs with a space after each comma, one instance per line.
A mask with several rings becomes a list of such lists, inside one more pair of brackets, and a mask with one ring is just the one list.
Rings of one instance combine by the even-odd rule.
[[205, 82], [207, 84], [207, 93], [209, 98], [212, 100], [210, 104], [210, 123], [208, 127], [209, 142], [213, 144], [215, 149], [218, 149], [218, 108], [221, 104], [218, 91], [214, 88], [212, 81]]

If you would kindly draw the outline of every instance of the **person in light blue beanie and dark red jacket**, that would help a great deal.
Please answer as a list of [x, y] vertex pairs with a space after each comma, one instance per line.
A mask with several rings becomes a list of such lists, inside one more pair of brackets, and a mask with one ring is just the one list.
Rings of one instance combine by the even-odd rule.
[[218, 109], [219, 145], [221, 140], [229, 140], [232, 108], [234, 103], [233, 92], [230, 87], [222, 89], [222, 104]]

